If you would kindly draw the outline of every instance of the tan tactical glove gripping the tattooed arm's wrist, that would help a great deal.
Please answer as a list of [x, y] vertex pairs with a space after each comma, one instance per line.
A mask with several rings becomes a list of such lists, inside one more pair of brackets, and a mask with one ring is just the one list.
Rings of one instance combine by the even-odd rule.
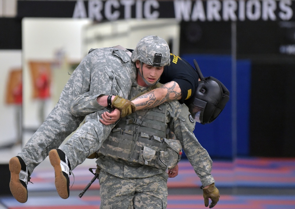
[[115, 96], [112, 107], [121, 111], [121, 117], [130, 115], [136, 111], [136, 106], [130, 100], [124, 99], [120, 96]]

